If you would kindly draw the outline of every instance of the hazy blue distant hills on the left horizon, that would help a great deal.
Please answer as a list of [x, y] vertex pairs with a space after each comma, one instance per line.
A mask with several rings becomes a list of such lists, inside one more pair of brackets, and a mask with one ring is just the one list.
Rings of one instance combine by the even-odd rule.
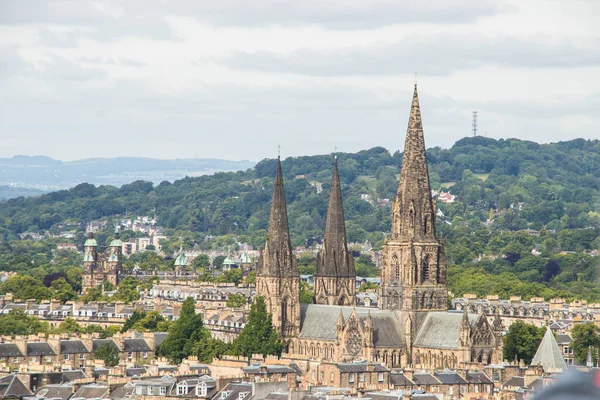
[[159, 160], [120, 157], [60, 161], [46, 156], [14, 156], [0, 158], [0, 187], [13, 188], [0, 188], [0, 198], [68, 189], [84, 182], [112, 186], [121, 186], [136, 180], [173, 182], [185, 176], [246, 170], [255, 164], [247, 160], [214, 158]]

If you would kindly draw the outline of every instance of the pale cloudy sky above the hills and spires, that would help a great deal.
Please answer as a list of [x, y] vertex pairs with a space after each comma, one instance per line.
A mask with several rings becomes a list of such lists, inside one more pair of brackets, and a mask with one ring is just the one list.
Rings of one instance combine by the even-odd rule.
[[600, 138], [597, 0], [0, 0], [0, 156]]

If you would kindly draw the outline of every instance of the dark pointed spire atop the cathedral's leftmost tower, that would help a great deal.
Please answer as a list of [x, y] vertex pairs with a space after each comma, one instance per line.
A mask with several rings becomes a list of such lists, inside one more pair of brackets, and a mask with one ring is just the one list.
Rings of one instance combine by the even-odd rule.
[[295, 259], [292, 257], [283, 174], [279, 157], [277, 158], [277, 172], [271, 201], [267, 241], [259, 268], [260, 274], [265, 276], [300, 275]]

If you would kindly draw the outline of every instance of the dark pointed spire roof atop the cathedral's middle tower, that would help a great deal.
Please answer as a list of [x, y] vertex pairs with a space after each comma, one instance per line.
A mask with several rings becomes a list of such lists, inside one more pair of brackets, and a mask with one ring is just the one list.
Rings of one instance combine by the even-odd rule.
[[323, 249], [317, 256], [315, 276], [356, 276], [354, 259], [348, 254], [346, 242], [346, 224], [337, 158], [333, 163]]

